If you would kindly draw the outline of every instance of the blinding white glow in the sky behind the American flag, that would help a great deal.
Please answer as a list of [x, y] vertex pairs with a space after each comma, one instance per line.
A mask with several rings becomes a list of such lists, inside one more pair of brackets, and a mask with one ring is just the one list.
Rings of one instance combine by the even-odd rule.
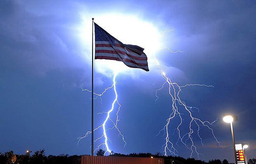
[[[94, 18], [95, 23], [122, 43], [143, 47], [148, 57], [149, 65], [151, 65], [151, 61], [154, 62], [154, 53], [161, 47], [161, 32], [153, 23], [142, 20], [138, 16], [123, 15], [121, 13], [103, 13]], [[92, 17], [82, 15], [82, 19], [83, 24], [79, 27], [81, 32], [79, 37], [81, 38], [81, 43], [87, 49], [86, 51], [89, 52], [83, 55], [85, 55], [84, 57], [87, 61], [91, 61]], [[134, 69], [127, 67], [123, 62], [111, 60], [96, 60], [95, 70], [106, 75], [112, 73], [113, 70], [119, 70], [119, 72], [134, 71]]]

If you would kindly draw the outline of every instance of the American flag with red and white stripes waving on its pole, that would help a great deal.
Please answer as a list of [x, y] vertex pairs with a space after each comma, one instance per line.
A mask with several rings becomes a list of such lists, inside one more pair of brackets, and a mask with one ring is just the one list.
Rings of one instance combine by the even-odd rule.
[[144, 48], [125, 45], [107, 31], [94, 23], [95, 26], [95, 59], [122, 61], [131, 68], [149, 71], [148, 58]]

